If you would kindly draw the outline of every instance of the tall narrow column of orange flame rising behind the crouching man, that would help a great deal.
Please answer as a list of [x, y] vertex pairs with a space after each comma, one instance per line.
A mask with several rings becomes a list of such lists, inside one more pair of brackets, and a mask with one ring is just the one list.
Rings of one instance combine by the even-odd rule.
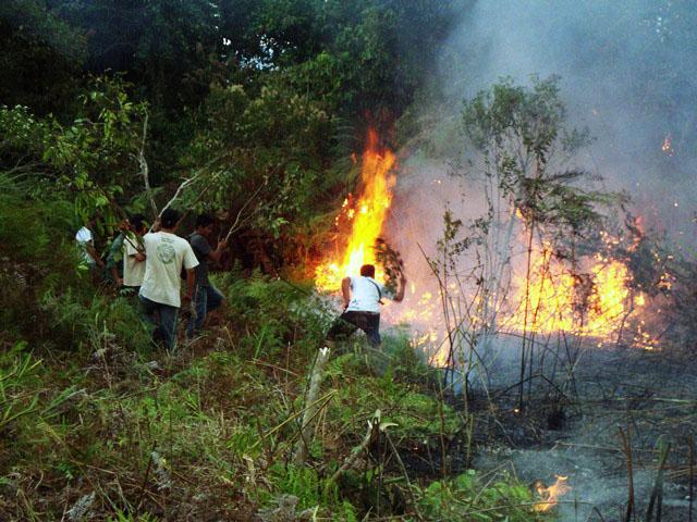
[[[357, 275], [363, 264], [376, 264], [374, 246], [380, 237], [382, 223], [392, 202], [395, 176], [391, 173], [395, 163], [394, 153], [378, 144], [375, 130], [368, 133], [368, 146], [363, 154], [360, 185], [363, 194], [355, 204], [346, 199], [335, 224], [346, 220], [351, 234], [343, 253], [326, 259], [315, 271], [315, 283], [321, 290], [337, 290], [347, 275]], [[383, 278], [382, 270], [376, 265], [376, 278]]]

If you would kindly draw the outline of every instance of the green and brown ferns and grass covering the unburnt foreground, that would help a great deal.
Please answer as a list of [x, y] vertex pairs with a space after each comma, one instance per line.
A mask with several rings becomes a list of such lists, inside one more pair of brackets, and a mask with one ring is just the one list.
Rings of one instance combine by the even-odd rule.
[[175, 357], [150, 344], [133, 299], [70, 288], [35, 304], [56, 338], [5, 336], [1, 520], [540, 518], [511, 477], [481, 484], [415, 465], [443, 457], [467, 417], [439, 402], [437, 374], [400, 333], [377, 351], [360, 337], [337, 347], [308, 459], [294, 464], [331, 314], [281, 279], [233, 272], [218, 283], [227, 308]]

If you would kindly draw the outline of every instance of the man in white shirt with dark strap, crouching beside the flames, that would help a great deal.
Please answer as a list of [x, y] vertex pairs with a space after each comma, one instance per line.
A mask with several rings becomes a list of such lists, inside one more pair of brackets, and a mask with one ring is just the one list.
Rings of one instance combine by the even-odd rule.
[[360, 328], [368, 336], [370, 345], [379, 346], [381, 341], [380, 304], [382, 304], [382, 297], [391, 297], [395, 302], [404, 299], [406, 277], [400, 274], [399, 281], [396, 295], [390, 296], [390, 291], [375, 281], [372, 264], [360, 266], [359, 277], [345, 277], [341, 282], [344, 312], [334, 320], [327, 334], [327, 339], [330, 341], [344, 340]]

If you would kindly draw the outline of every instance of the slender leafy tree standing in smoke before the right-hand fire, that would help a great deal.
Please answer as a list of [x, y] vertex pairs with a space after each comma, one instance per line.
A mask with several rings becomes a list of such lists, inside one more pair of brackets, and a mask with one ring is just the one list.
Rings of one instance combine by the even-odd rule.
[[[465, 136], [480, 154], [479, 164], [485, 177], [491, 182], [489, 194], [510, 206], [504, 214], [509, 231], [517, 215], [526, 236], [518, 385], [521, 409], [524, 407], [526, 370], [528, 382], [533, 376], [540, 306], [530, 298], [535, 241], [546, 244], [546, 249], [558, 259], [570, 261], [572, 273], [577, 276], [576, 245], [600, 225], [602, 216], [598, 207], [614, 200], [612, 195], [578, 185], [589, 178], [586, 171], [565, 166], [574, 153], [589, 142], [587, 133], [566, 128], [565, 115], [555, 77], [534, 77], [530, 88], [504, 80], [477, 95], [463, 112]], [[549, 271], [549, 259], [543, 257], [540, 269], [543, 272]], [[546, 284], [549, 278], [548, 273], [541, 274], [539, 284]]]

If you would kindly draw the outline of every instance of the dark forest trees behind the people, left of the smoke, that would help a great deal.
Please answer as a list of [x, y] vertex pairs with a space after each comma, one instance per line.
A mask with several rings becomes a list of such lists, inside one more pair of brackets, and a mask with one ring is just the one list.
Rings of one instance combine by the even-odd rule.
[[[8, 78], [71, 94], [39, 102], [8, 87], [0, 99], [24, 109], [7, 110], [25, 114], [4, 129], [0, 115], [0, 142], [13, 147], [0, 169], [20, 160], [40, 172], [78, 221], [99, 214], [110, 235], [121, 208], [144, 208], [145, 146], [150, 194], [186, 178], [175, 208], [225, 210], [234, 231], [277, 240], [277, 254], [299, 264], [353, 188], [347, 157], [366, 123], [387, 130], [406, 109], [468, 3], [12, 0], [0, 11]], [[46, 72], [32, 70], [52, 55]], [[59, 114], [29, 117], [56, 104]], [[32, 136], [19, 142], [24, 124]]]

